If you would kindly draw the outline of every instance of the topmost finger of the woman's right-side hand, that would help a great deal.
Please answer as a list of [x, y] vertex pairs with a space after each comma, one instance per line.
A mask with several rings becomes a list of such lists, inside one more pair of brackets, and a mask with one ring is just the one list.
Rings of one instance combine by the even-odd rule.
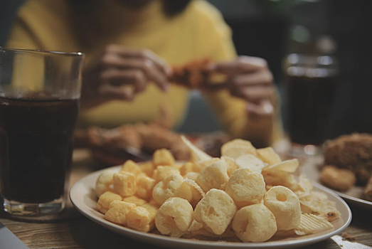
[[251, 56], [240, 56], [237, 60], [211, 63], [210, 69], [227, 75], [249, 73], [267, 68], [266, 60]]

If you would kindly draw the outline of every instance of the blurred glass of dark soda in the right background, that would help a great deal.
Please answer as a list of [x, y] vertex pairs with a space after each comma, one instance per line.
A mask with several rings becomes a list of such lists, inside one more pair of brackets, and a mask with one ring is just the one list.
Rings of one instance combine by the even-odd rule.
[[331, 55], [292, 53], [285, 58], [283, 70], [289, 155], [314, 158], [321, 155], [322, 144], [329, 139], [339, 78], [337, 59]]

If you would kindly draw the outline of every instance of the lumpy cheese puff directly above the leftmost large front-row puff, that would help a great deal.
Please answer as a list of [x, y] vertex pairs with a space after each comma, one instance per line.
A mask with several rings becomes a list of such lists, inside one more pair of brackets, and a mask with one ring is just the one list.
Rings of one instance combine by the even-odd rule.
[[163, 181], [159, 181], [152, 190], [152, 198], [160, 205], [171, 197], [180, 197], [187, 201], [191, 201], [193, 197], [190, 187], [180, 174], [167, 176]]

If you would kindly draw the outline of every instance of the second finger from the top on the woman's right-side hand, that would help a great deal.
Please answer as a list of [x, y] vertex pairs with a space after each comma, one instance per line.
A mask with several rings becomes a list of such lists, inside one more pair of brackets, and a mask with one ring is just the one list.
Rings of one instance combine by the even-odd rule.
[[272, 74], [270, 70], [259, 70], [253, 73], [245, 73], [231, 78], [230, 82], [234, 85], [271, 85]]

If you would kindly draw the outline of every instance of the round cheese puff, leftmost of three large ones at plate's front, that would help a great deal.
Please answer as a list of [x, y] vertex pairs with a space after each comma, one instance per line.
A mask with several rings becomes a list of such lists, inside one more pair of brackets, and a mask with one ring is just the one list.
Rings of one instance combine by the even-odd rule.
[[166, 200], [155, 216], [155, 226], [163, 235], [180, 238], [193, 222], [193, 207], [184, 198]]

